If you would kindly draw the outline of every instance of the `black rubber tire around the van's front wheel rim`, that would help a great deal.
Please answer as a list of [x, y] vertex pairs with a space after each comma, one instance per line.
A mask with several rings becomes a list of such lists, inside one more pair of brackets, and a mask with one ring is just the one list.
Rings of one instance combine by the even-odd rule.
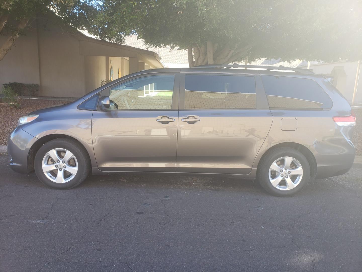
[[[46, 174], [43, 172], [42, 169], [43, 158], [49, 151], [55, 148], [66, 149], [72, 152], [77, 160], [78, 170], [75, 176], [70, 181], [64, 183], [56, 183], [54, 181], [51, 181], [48, 177], [46, 177]], [[87, 151], [85, 151], [83, 146], [81, 146], [79, 143], [77, 143], [75, 140], [72, 139], [61, 138], [61, 139], [51, 140], [45, 143], [41, 148], [39, 148], [37, 154], [35, 155], [34, 170], [35, 173], [37, 174], [37, 177], [43, 184], [53, 189], [71, 189], [78, 186], [88, 176], [89, 169], [90, 169], [90, 161]]]

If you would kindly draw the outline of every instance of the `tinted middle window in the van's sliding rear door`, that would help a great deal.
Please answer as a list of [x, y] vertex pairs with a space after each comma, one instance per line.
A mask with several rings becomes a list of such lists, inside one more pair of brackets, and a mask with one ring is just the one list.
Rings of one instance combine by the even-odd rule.
[[185, 109], [256, 108], [254, 77], [186, 75]]

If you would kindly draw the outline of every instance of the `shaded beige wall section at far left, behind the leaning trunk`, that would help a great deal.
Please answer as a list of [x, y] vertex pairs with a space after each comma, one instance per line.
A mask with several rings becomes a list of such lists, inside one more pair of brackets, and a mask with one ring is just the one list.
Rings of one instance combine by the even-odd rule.
[[[0, 36], [0, 44], [7, 37]], [[0, 61], [0, 90], [4, 83], [21, 82], [39, 84], [39, 58], [36, 29], [20, 36], [15, 46]]]

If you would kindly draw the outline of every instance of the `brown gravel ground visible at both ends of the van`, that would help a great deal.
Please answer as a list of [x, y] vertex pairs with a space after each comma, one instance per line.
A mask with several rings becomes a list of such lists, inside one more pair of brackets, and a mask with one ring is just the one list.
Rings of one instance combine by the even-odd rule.
[[[9, 133], [16, 127], [17, 121], [21, 116], [29, 114], [29, 112], [56, 106], [69, 101], [60, 100], [43, 100], [43, 99], [23, 99], [20, 109], [12, 109], [0, 99], [0, 145], [7, 144]], [[354, 128], [353, 144], [356, 147], [356, 155], [362, 155], [362, 109], [354, 109], [357, 125]]]

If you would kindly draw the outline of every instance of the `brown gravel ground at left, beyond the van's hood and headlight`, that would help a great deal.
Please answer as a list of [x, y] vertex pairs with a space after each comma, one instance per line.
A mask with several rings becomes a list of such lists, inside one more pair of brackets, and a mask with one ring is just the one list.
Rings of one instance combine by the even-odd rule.
[[18, 119], [29, 112], [52, 106], [68, 103], [69, 101], [43, 100], [43, 99], [23, 99], [19, 109], [10, 108], [8, 104], [0, 99], [0, 145], [6, 145], [9, 133], [16, 127]]

